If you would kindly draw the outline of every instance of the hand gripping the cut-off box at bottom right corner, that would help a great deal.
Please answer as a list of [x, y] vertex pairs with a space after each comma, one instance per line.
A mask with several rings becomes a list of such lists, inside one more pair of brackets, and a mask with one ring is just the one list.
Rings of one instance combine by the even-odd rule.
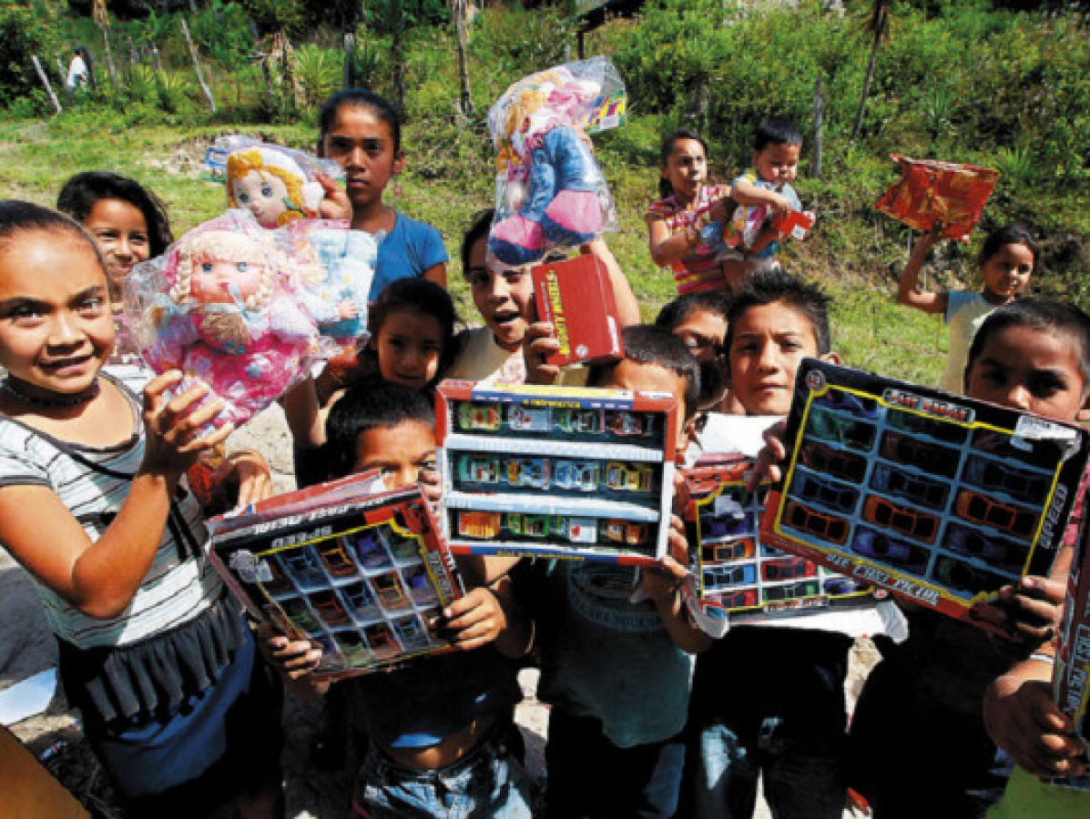
[[1086, 745], [1071, 719], [1052, 701], [1051, 667], [1030, 660], [984, 693], [984, 726], [1019, 766], [1042, 777], [1081, 777]]

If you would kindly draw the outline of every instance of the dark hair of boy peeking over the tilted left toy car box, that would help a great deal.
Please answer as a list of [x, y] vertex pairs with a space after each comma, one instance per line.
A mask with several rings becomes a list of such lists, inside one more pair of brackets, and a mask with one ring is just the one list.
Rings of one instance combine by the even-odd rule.
[[358, 381], [349, 387], [326, 418], [323, 450], [329, 477], [343, 478], [352, 473], [356, 442], [364, 432], [412, 420], [435, 426], [435, 411], [423, 393], [382, 379]]

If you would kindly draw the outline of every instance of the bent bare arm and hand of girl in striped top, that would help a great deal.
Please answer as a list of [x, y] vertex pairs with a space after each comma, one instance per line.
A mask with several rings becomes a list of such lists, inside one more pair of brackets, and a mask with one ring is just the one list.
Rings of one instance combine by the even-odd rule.
[[128, 608], [159, 548], [179, 477], [233, 429], [228, 424], [199, 437], [202, 426], [216, 417], [223, 402], [197, 406], [208, 392], [204, 384], [166, 401], [164, 392], [181, 378], [181, 372], [171, 370], [144, 389], [144, 462], [118, 516], [98, 540], [87, 537], [52, 489], [0, 488], [0, 545], [88, 616], [116, 618]]

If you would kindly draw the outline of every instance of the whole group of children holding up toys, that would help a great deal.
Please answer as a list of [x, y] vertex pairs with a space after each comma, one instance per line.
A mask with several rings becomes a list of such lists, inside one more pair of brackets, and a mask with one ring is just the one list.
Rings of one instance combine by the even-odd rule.
[[[562, 371], [544, 364], [555, 341], [536, 320], [529, 270], [486, 258], [491, 211], [461, 247], [484, 326], [456, 334], [438, 233], [383, 200], [404, 163], [393, 110], [348, 90], [319, 122], [319, 152], [346, 171], [344, 190], [326, 185], [323, 213], [386, 237], [367, 347], [283, 399], [301, 484], [379, 468], [388, 486], [420, 481], [435, 499], [432, 394], [443, 377], [673, 393], [686, 419], [673, 442], [681, 460], [701, 445], [699, 417], [783, 417], [800, 360], [838, 360], [829, 300], [778, 268], [774, 230], [758, 225], [742, 246], [705, 241], [722, 236], [705, 229], [727, 225], [739, 207], [798, 209], [790, 183], [801, 136], [787, 121], [762, 123], [753, 171], [729, 187], [705, 184], [698, 135], [667, 139], [663, 198], [647, 215], [651, 255], [695, 292], [641, 326], [605, 244], [581, 248], [609, 271], [626, 353]], [[850, 731], [851, 638], [767, 626], [706, 637], [681, 602], [679, 519], [669, 555], [639, 574], [460, 559], [469, 592], [429, 623], [460, 650], [336, 683], [329, 694], [308, 675], [320, 648], [267, 627], [255, 639], [202, 550], [202, 512], [181, 476], [231, 431], [205, 431], [218, 404], [202, 404], [201, 388], [166, 400], [177, 372], [147, 381], [108, 366], [120, 283], [171, 241], [161, 205], [97, 172], [73, 178], [58, 205], [71, 218], [0, 203], [0, 543], [40, 591], [70, 701], [133, 816], [201, 816], [230, 799], [242, 816], [282, 815], [284, 681], [300, 696], [328, 694], [337, 720], [365, 736], [352, 815], [528, 817], [534, 786], [513, 724], [516, 669], [528, 661], [541, 668], [538, 696], [552, 706], [549, 817], [751, 816], [759, 774], [778, 817], [839, 817], [849, 786], [877, 817], [982, 816], [1005, 780], [994, 773], [997, 746], [1026, 772], [1010, 780], [997, 808], [1007, 812], [997, 815], [1085, 810], [1080, 794], [1034, 791], [1032, 779], [1083, 765], [1085, 747], [1046, 687], [1071, 548], [1050, 577], [1028, 577], [994, 603], [1007, 640], [905, 604], [910, 636], [882, 644]], [[931, 243], [913, 252], [903, 301], [971, 328], [962, 314], [981, 311], [966, 306], [971, 300], [913, 291]], [[1075, 420], [1090, 394], [1090, 318], [1054, 302], [1013, 302], [1038, 255], [1017, 230], [985, 243], [980, 297], [990, 314], [954, 365], [956, 391]], [[767, 437], [760, 463], [775, 478], [785, 452], [775, 427]], [[241, 500], [268, 491], [256, 453], [227, 465]], [[1040, 799], [1057, 807], [1017, 812]]]

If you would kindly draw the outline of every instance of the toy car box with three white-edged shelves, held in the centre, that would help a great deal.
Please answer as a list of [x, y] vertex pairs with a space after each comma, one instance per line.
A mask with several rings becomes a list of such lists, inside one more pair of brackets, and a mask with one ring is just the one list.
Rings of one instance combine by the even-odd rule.
[[678, 423], [669, 393], [444, 381], [436, 424], [450, 551], [656, 563]]

